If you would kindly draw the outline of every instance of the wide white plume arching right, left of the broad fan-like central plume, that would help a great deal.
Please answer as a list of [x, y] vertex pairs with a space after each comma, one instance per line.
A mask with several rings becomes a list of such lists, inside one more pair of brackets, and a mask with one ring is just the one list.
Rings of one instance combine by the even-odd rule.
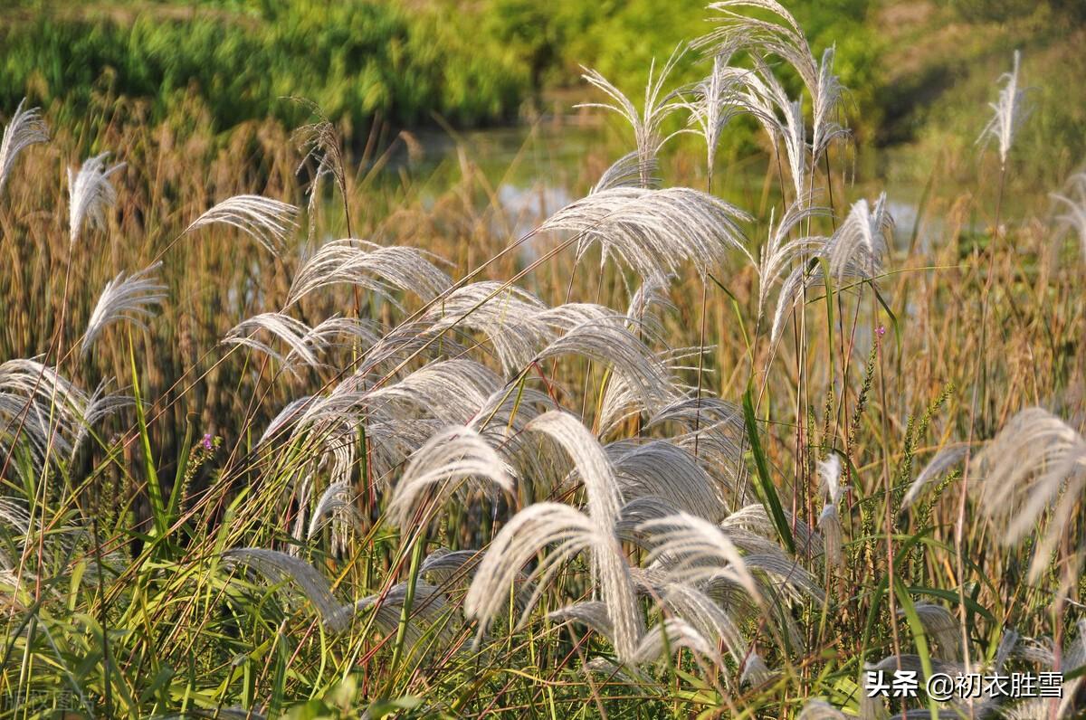
[[414, 248], [386, 248], [352, 238], [326, 242], [294, 275], [287, 306], [320, 288], [339, 283], [364, 288], [392, 302], [396, 290], [432, 300], [452, 285], [432, 257]]

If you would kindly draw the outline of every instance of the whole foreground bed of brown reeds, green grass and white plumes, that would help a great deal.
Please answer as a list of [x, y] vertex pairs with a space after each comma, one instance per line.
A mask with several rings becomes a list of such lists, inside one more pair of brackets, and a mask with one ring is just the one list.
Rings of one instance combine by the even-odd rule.
[[[466, 156], [437, 199], [376, 184], [316, 109], [226, 140], [17, 109], [3, 717], [1086, 707], [1086, 210], [1081, 177], [1008, 210], [1018, 58], [975, 186], [933, 173], [901, 228], [833, 51], [773, 0], [709, 14], [695, 86], [586, 72], [630, 152], [522, 237]], [[867, 696], [902, 668], [1062, 697]]]

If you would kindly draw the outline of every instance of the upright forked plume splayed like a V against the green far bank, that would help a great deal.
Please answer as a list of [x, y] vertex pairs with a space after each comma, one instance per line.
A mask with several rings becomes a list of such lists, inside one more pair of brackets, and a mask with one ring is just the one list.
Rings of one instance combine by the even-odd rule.
[[637, 164], [641, 173], [641, 185], [649, 187], [652, 182], [652, 167], [656, 164], [656, 153], [666, 139], [660, 138], [660, 125], [671, 112], [678, 109], [678, 104], [671, 100], [670, 96], [664, 94], [664, 84], [667, 81], [675, 63], [682, 56], [680, 48], [671, 53], [660, 72], [656, 73], [656, 60], [649, 64], [648, 81], [645, 84], [645, 102], [639, 111], [626, 94], [611, 85], [607, 78], [594, 70], [584, 70], [581, 76], [593, 87], [602, 90], [610, 98], [610, 102], [589, 102], [577, 105], [578, 108], [603, 108], [622, 116], [633, 128], [634, 142], [637, 148]]

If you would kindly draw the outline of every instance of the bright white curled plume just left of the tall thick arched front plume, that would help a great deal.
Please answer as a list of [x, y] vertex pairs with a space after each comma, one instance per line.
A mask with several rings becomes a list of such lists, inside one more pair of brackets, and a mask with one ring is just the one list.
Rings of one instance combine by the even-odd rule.
[[[513, 480], [505, 463], [478, 432], [463, 426], [445, 428], [411, 456], [393, 490], [388, 513], [401, 530], [406, 530], [428, 489], [431, 489], [431, 507], [435, 511], [471, 478], [484, 478], [503, 491], [513, 492]], [[473, 484], [483, 492], [491, 491], [488, 483], [477, 481]]]

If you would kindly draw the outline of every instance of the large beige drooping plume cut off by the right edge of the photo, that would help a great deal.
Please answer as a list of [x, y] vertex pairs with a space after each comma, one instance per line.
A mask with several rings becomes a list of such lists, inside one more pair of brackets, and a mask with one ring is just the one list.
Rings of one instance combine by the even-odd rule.
[[977, 506], [999, 528], [1003, 545], [1016, 545], [1048, 513], [1048, 529], [1030, 566], [1030, 581], [1036, 581], [1082, 511], [1086, 440], [1055, 415], [1031, 407], [1012, 417], [970, 467], [977, 478]]

